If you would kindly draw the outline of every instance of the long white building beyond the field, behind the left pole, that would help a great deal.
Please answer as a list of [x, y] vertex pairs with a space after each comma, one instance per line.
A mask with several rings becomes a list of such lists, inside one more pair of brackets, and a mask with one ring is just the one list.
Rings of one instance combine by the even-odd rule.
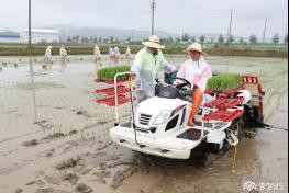
[[[20, 34], [20, 38], [22, 42], [25, 42], [25, 43], [29, 42], [29, 30], [27, 29]], [[59, 43], [59, 41], [60, 41], [60, 35], [58, 31], [31, 29], [31, 42], [33, 44]]]

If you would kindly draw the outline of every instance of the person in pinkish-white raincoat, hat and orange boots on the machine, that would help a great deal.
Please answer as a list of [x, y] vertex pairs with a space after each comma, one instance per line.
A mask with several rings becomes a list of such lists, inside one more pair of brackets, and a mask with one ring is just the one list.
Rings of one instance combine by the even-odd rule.
[[187, 52], [190, 59], [180, 67], [177, 77], [190, 81], [193, 86], [192, 107], [188, 125], [194, 126], [193, 117], [202, 102], [207, 81], [212, 77], [212, 70], [202, 57], [202, 46], [200, 44], [191, 44], [188, 46]]

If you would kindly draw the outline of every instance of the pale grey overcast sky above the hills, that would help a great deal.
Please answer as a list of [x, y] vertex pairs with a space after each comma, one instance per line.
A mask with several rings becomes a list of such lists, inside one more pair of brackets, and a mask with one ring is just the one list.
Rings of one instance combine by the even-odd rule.
[[[152, 0], [32, 0], [32, 27], [52, 24], [151, 31]], [[0, 30], [27, 27], [29, 0], [0, 0]], [[286, 32], [288, 0], [156, 0], [156, 30], [267, 36]]]

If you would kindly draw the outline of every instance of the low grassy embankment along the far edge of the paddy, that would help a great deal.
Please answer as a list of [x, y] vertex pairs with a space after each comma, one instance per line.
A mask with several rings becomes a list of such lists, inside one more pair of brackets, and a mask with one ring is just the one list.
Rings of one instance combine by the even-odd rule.
[[[102, 54], [108, 54], [109, 47], [115, 46], [116, 44], [101, 44], [99, 45]], [[53, 45], [53, 55], [59, 54], [62, 45]], [[127, 46], [131, 48], [133, 54], [136, 54], [142, 49], [143, 45], [118, 45], [120, 52], [125, 54]], [[31, 50], [25, 45], [0, 45], [0, 56], [30, 56], [44, 55], [47, 45], [35, 45]], [[69, 55], [92, 55], [95, 45], [66, 45], [67, 53]], [[204, 46], [205, 47], [205, 46]], [[165, 54], [184, 54], [186, 46], [167, 46], [163, 52]], [[285, 49], [240, 49], [240, 48], [204, 48], [204, 53], [211, 56], [249, 56], [249, 57], [277, 57], [288, 58], [288, 50]]]

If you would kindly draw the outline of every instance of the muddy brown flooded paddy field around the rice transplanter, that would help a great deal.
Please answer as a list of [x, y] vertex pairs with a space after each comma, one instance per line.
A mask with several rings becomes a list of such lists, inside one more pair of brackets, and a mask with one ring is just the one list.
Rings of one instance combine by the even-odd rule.
[[[176, 66], [185, 59], [168, 56]], [[288, 59], [205, 59], [215, 73], [259, 76], [265, 122], [276, 127], [242, 139], [234, 174], [232, 151], [204, 168], [112, 144], [113, 109], [95, 102], [105, 86], [93, 82], [100, 65], [92, 57], [47, 66], [40, 57], [0, 57], [0, 193], [241, 193], [248, 181], [288, 192], [288, 133], [279, 129], [288, 130]], [[102, 65], [110, 66], [107, 56]], [[125, 122], [130, 105], [121, 112]]]

